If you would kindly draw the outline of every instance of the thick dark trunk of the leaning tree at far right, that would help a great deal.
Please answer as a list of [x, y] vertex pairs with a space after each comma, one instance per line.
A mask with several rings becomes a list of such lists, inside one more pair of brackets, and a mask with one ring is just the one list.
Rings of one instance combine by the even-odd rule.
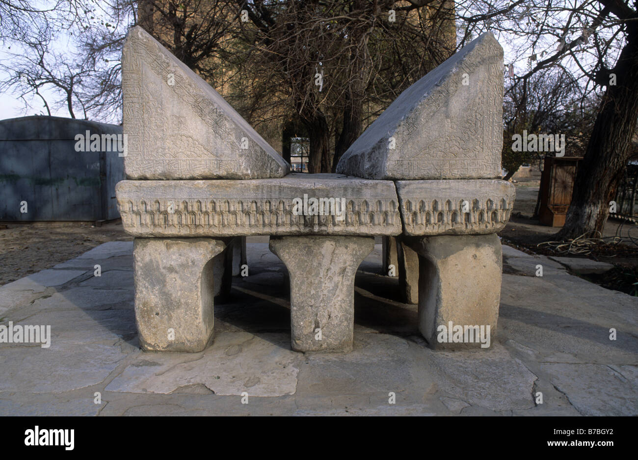
[[627, 166], [638, 117], [638, 27], [631, 24], [627, 29], [627, 45], [611, 71], [616, 74], [617, 84], [607, 86], [598, 109], [576, 173], [565, 226], [554, 236], [559, 240], [602, 233], [609, 216], [609, 201]]

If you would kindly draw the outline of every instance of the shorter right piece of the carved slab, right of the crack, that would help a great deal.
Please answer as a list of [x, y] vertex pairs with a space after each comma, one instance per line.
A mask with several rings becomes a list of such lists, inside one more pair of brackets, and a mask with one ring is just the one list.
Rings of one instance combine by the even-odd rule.
[[505, 180], [399, 180], [404, 234], [488, 234], [510, 219], [516, 188]]

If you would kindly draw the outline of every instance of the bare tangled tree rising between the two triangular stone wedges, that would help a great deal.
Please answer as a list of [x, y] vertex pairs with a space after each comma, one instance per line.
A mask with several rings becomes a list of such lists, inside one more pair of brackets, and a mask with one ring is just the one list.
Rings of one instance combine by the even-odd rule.
[[[310, 172], [334, 170], [371, 115], [366, 106], [378, 115], [454, 51], [451, 2], [400, 4], [237, 0], [250, 19], [242, 39], [255, 55], [251, 62], [278, 75], [271, 81], [285, 85], [288, 104], [308, 133]], [[335, 122], [340, 126], [331, 129]]]

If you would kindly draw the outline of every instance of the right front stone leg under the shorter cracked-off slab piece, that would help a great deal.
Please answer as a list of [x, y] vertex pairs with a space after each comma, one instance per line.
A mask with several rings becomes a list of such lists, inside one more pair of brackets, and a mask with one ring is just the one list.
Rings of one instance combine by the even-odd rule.
[[[489, 346], [496, 336], [501, 296], [503, 253], [498, 236], [441, 235], [406, 241], [420, 255], [419, 330], [429, 345]], [[445, 326], [445, 335], [440, 326]], [[461, 326], [462, 335], [456, 326]]]

